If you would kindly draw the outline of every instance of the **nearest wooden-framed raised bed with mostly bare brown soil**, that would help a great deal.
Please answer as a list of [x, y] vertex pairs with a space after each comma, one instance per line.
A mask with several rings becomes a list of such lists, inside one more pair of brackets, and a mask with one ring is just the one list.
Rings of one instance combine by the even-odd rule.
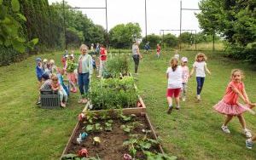
[[[108, 115], [107, 118], [106, 115]], [[96, 118], [93, 119], [94, 117]], [[103, 117], [105, 117], [105, 119]], [[109, 117], [111, 118], [109, 119]], [[130, 117], [131, 119], [129, 120]], [[126, 120], [128, 118], [129, 121], [126, 121], [125, 118]], [[93, 119], [93, 123], [91, 123], [91, 119]], [[107, 130], [107, 123], [109, 120], [112, 121], [111, 129]], [[95, 130], [90, 130], [91, 125], [99, 125], [102, 129], [98, 126], [97, 128], [99, 130], [96, 131], [96, 127], [94, 127]], [[83, 132], [88, 133], [88, 136], [79, 144], [77, 138], [79, 137], [79, 134]], [[137, 138], [135, 138], [135, 136]], [[101, 142], [97, 145], [93, 145], [94, 137], [99, 137]], [[147, 139], [145, 137], [147, 137]], [[84, 148], [88, 151], [89, 157], [97, 157], [106, 160], [124, 159], [125, 153], [132, 155], [131, 144], [129, 145], [129, 141], [134, 139], [137, 139], [138, 141], [149, 140], [152, 142], [151, 145], [147, 146], [148, 144], [146, 144], [146, 146], [143, 146], [145, 147], [143, 150], [150, 151], [150, 153], [152, 152], [153, 154], [164, 154], [162, 147], [158, 143], [158, 137], [155, 134], [154, 128], [146, 113], [130, 115], [128, 112], [120, 114], [113, 110], [86, 113], [85, 118], [77, 123], [75, 129], [73, 129], [73, 134], [62, 152], [61, 159], [65, 159], [63, 157], [67, 154], [78, 154], [78, 151]], [[142, 148], [138, 147], [135, 155], [135, 158], [147, 159]]]

